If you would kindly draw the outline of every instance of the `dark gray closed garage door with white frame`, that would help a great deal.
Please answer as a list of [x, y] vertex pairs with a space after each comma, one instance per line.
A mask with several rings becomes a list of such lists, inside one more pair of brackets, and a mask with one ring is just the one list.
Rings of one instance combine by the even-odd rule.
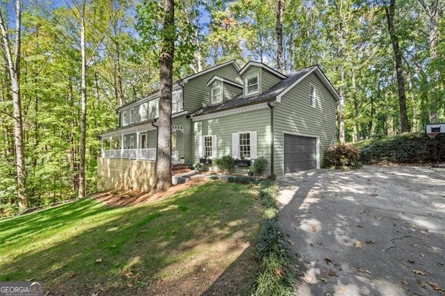
[[284, 174], [317, 167], [317, 139], [284, 134]]

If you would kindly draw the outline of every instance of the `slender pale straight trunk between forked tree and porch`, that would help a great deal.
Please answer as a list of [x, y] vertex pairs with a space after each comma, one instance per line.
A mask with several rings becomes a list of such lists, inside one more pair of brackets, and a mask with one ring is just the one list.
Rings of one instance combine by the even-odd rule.
[[86, 41], [85, 41], [85, 0], [82, 2], [81, 13], [81, 147], [79, 160], [79, 198], [85, 197], [86, 180], [85, 180], [85, 150], [86, 150]]

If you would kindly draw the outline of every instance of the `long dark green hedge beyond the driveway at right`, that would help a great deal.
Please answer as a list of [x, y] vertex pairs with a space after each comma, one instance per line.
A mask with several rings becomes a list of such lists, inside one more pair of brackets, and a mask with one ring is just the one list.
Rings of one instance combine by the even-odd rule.
[[366, 164], [391, 163], [432, 163], [445, 160], [445, 135], [430, 139], [425, 133], [410, 133], [375, 140], [360, 150], [361, 160]]

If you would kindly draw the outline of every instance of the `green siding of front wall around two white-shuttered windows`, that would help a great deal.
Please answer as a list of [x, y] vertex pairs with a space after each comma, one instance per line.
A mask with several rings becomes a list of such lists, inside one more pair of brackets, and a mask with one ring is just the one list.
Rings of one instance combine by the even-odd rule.
[[[232, 155], [232, 133], [257, 131], [257, 157], [264, 156], [268, 166], [264, 174], [270, 174], [270, 109], [252, 110], [236, 115], [193, 122], [193, 160], [199, 161], [200, 136], [217, 136], [217, 158]], [[237, 172], [246, 172], [248, 167], [239, 167]]]

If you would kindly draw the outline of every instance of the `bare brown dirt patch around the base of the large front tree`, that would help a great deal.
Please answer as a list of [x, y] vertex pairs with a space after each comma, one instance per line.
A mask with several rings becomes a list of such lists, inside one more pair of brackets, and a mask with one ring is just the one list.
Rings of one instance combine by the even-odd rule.
[[168, 188], [166, 192], [145, 192], [133, 190], [108, 190], [95, 195], [95, 199], [108, 206], [134, 206], [144, 202], [154, 202], [175, 195], [177, 192], [207, 183], [209, 179], [194, 178], [187, 183], [178, 184]]

